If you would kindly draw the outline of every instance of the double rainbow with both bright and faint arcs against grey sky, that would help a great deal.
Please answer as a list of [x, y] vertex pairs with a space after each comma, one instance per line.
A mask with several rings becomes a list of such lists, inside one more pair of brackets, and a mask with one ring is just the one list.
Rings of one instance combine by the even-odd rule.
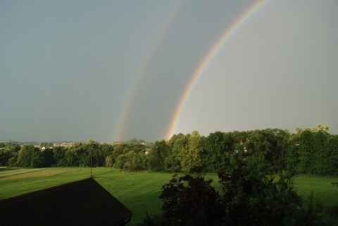
[[[189, 95], [192, 93], [192, 90], [194, 89], [194, 86], [196, 86], [197, 81], [199, 81], [199, 78], [203, 74], [203, 72], [206, 70], [210, 62], [215, 58], [215, 55], [220, 51], [220, 49], [225, 45], [225, 43], [230, 39], [230, 37], [241, 27], [241, 25], [244, 24], [251, 16], [256, 13], [262, 6], [264, 6], [269, 0], [258, 0], [255, 4], [250, 6], [242, 15], [237, 18], [230, 27], [228, 27], [225, 32], [220, 36], [218, 41], [213, 44], [212, 48], [208, 51], [206, 56], [203, 58], [203, 60], [200, 62], [199, 66], [194, 71], [194, 74], [192, 74], [192, 79], [190, 79], [187, 87], [184, 89], [184, 93], [182, 95], [182, 98], [180, 98], [180, 102], [178, 103], [177, 107], [174, 111], [173, 119], [170, 121], [169, 129], [166, 133], [166, 138], [169, 140], [172, 135], [175, 133], [175, 129], [177, 124], [180, 121], [180, 117], [182, 114], [182, 111], [184, 109], [184, 105], [186, 105], [187, 100], [189, 99]], [[184, 6], [184, 1], [179, 1], [178, 4], [173, 8], [172, 11], [170, 11], [170, 15], [168, 16], [167, 20], [165, 20], [165, 23], [161, 29], [160, 32], [158, 32], [158, 35], [154, 39], [154, 41], [151, 42], [151, 48], [149, 48], [149, 51], [146, 53], [144, 60], [139, 64], [139, 67], [137, 67], [137, 72], [135, 73], [134, 79], [132, 79], [132, 85], [130, 86], [130, 90], [127, 91], [128, 95], [125, 101], [125, 105], [121, 108], [120, 114], [118, 116], [118, 126], [115, 128], [115, 132], [113, 135], [113, 139], [115, 141], [120, 141], [123, 138], [124, 128], [127, 124], [127, 118], [128, 118], [128, 112], [130, 112], [134, 97], [137, 93], [137, 84], [139, 84], [140, 81], [144, 78], [144, 75], [146, 74], [147, 70], [149, 69], [149, 65], [151, 60], [154, 59], [154, 55], [156, 54], [156, 51], [158, 49], [158, 46], [161, 44], [161, 41], [163, 40], [163, 37], [168, 32], [168, 29], [173, 24], [173, 21], [175, 20], [177, 14], [180, 12], [180, 10]]]

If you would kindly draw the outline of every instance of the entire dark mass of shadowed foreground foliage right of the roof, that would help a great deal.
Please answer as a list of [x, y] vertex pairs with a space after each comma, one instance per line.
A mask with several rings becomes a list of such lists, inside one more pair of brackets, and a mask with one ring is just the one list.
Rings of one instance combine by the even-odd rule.
[[221, 195], [201, 175], [174, 175], [162, 187], [161, 215], [147, 215], [142, 225], [324, 225], [323, 205], [311, 195], [304, 208], [290, 177], [274, 182], [245, 167], [218, 176]]

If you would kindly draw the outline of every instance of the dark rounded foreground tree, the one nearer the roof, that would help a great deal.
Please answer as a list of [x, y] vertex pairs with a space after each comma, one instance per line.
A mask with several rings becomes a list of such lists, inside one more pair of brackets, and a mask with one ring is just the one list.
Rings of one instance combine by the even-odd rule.
[[173, 176], [163, 185], [163, 222], [166, 225], [218, 225], [222, 220], [222, 207], [212, 180], [190, 175]]

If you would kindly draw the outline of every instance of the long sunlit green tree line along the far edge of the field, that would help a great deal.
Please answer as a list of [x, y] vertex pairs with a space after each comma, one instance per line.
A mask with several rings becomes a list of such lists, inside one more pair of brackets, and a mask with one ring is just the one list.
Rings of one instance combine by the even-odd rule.
[[170, 140], [121, 142], [110, 145], [88, 140], [71, 147], [41, 149], [15, 142], [0, 143], [0, 166], [37, 168], [49, 166], [108, 166], [125, 171], [183, 173], [232, 172], [245, 165], [263, 173], [289, 171], [306, 174], [338, 173], [338, 135], [330, 126], [278, 128], [199, 135], [175, 134]]

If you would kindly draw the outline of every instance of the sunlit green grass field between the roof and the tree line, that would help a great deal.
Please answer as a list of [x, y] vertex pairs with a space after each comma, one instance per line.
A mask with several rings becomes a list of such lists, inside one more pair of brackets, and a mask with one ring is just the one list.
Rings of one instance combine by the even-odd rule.
[[[92, 172], [100, 185], [132, 211], [132, 221], [128, 225], [141, 222], [146, 213], [160, 211], [161, 187], [173, 177], [171, 173], [123, 173], [115, 168], [93, 168]], [[90, 168], [0, 168], [0, 199], [81, 180], [89, 175]], [[213, 179], [216, 189], [219, 188], [216, 174], [205, 177]], [[332, 206], [338, 204], [338, 187], [331, 182], [338, 182], [338, 178], [297, 177], [294, 187], [303, 199], [307, 200], [313, 192], [315, 200]]]

